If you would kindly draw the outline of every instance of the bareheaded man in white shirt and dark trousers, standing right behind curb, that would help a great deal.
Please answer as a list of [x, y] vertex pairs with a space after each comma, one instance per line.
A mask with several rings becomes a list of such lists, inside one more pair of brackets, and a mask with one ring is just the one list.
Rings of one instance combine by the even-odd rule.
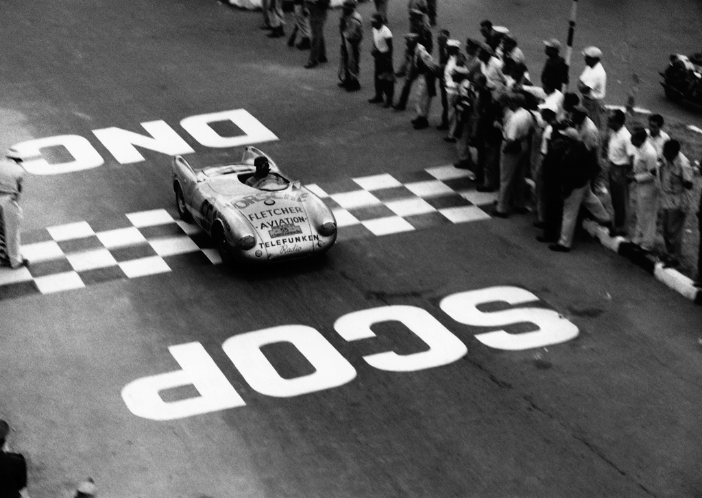
[[629, 205], [628, 175], [631, 169], [631, 133], [624, 123], [626, 116], [620, 109], [612, 111], [607, 126], [611, 129], [607, 142], [607, 161], [609, 161], [609, 192], [612, 210], [614, 210], [614, 227], [611, 235], [625, 235], [626, 208]]

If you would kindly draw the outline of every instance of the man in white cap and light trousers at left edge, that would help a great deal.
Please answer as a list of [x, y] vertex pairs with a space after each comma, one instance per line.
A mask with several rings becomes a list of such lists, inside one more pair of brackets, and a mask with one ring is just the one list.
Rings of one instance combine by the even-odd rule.
[[0, 161], [0, 263], [19, 268], [29, 264], [20, 255], [22, 208], [18, 201], [25, 174], [20, 166], [24, 156], [15, 149], [8, 149], [6, 156], [13, 161]]

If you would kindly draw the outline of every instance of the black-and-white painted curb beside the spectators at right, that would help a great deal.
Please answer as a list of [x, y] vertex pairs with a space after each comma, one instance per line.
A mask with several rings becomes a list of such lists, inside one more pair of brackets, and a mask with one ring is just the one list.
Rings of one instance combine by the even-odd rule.
[[637, 264], [637, 266], [656, 277], [658, 281], [661, 281], [688, 300], [695, 304], [702, 304], [702, 289], [696, 288], [691, 278], [684, 276], [680, 271], [673, 268], [664, 268], [663, 263], [658, 261], [658, 258], [626, 238], [610, 236], [607, 228], [602, 227], [597, 222], [585, 220], [583, 221], [583, 228], [590, 236], [597, 238], [607, 249], [613, 250], [618, 255]]

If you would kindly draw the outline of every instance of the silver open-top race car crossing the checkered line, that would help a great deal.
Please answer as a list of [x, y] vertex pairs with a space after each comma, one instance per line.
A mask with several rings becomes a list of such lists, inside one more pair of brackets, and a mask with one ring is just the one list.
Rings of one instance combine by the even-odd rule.
[[[265, 190], [246, 185], [258, 156], [267, 157], [281, 184]], [[213, 238], [225, 262], [319, 255], [336, 241], [336, 220], [324, 201], [285, 177], [256, 147], [246, 147], [239, 163], [201, 170], [175, 156], [172, 170], [178, 214]]]

